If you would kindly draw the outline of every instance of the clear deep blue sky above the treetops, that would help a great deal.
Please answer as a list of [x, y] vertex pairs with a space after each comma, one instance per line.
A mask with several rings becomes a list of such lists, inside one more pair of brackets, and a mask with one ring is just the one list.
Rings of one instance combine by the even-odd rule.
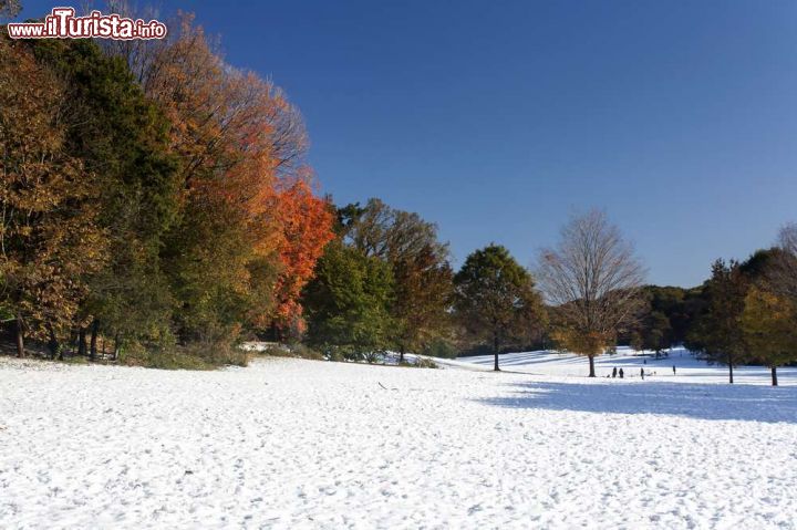
[[159, 3], [287, 90], [337, 202], [417, 211], [456, 263], [530, 264], [600, 207], [651, 282], [694, 285], [797, 220], [795, 1]]

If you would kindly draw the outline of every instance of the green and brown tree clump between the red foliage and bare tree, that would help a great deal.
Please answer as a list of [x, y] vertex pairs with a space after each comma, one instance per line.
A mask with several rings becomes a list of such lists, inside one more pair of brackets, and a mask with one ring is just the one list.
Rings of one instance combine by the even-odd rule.
[[458, 272], [435, 225], [380, 199], [338, 209], [337, 237], [306, 289], [307, 342], [329, 358], [395, 351], [455, 356], [532, 344], [545, 309], [531, 274], [489, 245]]

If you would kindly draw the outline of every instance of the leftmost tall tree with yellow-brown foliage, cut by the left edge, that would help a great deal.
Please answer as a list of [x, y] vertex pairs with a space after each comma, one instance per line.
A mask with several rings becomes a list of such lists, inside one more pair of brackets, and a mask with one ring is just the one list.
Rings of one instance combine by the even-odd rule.
[[93, 175], [64, 153], [59, 81], [0, 35], [0, 304], [24, 335], [55, 341], [105, 260]]

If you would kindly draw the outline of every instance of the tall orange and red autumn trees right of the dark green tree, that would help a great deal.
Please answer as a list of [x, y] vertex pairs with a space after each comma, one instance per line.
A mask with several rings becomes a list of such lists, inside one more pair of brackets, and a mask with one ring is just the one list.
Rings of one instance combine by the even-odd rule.
[[300, 291], [332, 237], [301, 116], [272, 83], [227, 64], [192, 15], [169, 28], [165, 41], [106, 49], [163, 107], [183, 160], [183, 221], [165, 252], [178, 335], [301, 328]]

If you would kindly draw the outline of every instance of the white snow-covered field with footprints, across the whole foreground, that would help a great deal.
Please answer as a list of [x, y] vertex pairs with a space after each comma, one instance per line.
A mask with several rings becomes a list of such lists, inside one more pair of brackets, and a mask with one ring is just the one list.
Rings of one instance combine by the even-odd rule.
[[0, 358], [0, 528], [797, 528], [797, 386], [528, 361]]

